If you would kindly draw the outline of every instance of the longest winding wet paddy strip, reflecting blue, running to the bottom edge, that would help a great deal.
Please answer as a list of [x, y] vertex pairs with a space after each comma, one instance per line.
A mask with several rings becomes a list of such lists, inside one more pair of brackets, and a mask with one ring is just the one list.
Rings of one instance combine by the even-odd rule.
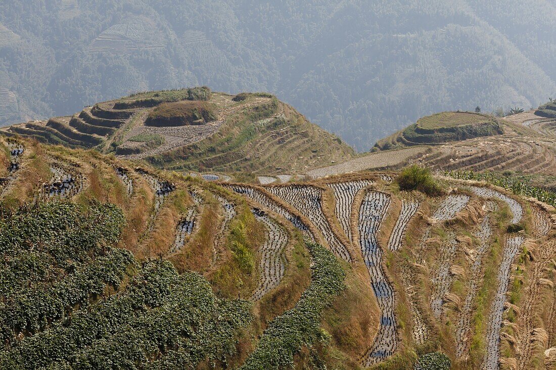
[[364, 366], [371, 366], [392, 356], [399, 344], [394, 313], [394, 289], [384, 274], [383, 249], [377, 239], [389, 207], [390, 197], [387, 194], [370, 192], [365, 195], [359, 209], [359, 244], [381, 311], [379, 331], [373, 346], [363, 357]]

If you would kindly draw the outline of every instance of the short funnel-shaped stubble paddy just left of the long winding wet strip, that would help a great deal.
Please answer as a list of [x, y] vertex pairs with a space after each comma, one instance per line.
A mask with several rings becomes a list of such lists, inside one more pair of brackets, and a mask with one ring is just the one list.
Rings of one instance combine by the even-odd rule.
[[334, 212], [340, 226], [344, 230], [347, 238], [353, 242], [351, 233], [351, 207], [355, 199], [355, 194], [361, 189], [368, 187], [372, 182], [369, 180], [359, 180], [350, 182], [339, 182], [328, 184], [334, 191], [336, 206]]

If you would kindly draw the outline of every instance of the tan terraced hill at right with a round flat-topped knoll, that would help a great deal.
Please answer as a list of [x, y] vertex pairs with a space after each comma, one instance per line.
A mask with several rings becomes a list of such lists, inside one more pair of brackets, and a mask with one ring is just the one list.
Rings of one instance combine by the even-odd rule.
[[[370, 153], [330, 166], [312, 168], [301, 174], [316, 179], [365, 170], [397, 170], [409, 164], [419, 164], [439, 172], [514, 176], [529, 186], [555, 189], [556, 119], [542, 116], [543, 113], [538, 115], [543, 109], [550, 111], [547, 107], [552, 106], [553, 102], [538, 110], [503, 118], [466, 112], [435, 114], [421, 118], [408, 129], [379, 141]], [[469, 123], [469, 120], [475, 123]], [[488, 136], [465, 128], [476, 124], [497, 128], [483, 132]], [[454, 134], [454, 127], [458, 130], [465, 128], [464, 136]], [[430, 141], [410, 142], [405, 139], [408, 132], [424, 129], [431, 130], [427, 134]], [[261, 183], [278, 181], [270, 173], [265, 176], [260, 179]]]

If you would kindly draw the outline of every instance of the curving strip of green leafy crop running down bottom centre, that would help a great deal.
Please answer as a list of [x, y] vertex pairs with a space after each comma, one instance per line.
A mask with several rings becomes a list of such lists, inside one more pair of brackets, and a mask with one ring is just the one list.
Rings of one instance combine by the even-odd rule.
[[327, 343], [320, 328], [321, 314], [344, 289], [345, 272], [326, 248], [306, 243], [311, 253], [311, 284], [294, 308], [276, 317], [261, 336], [255, 351], [241, 369], [285, 369], [294, 367], [294, 355], [303, 346]]

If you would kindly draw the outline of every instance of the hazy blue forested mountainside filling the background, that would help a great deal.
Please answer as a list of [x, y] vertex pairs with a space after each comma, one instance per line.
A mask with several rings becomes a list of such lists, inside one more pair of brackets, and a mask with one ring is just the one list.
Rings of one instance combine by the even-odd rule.
[[0, 11], [0, 123], [127, 93], [267, 91], [359, 151], [443, 110], [556, 96], [543, 0], [13, 0]]

